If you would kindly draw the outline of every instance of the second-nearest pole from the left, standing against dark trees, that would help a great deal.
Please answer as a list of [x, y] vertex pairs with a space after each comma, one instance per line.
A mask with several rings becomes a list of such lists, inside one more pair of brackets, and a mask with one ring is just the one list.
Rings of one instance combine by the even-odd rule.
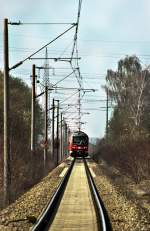
[[35, 152], [35, 65], [32, 66], [31, 155], [34, 154], [34, 152]]

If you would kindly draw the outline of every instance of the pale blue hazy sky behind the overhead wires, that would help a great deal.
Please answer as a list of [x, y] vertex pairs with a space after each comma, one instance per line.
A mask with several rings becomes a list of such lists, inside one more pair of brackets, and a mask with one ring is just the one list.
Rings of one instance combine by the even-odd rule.
[[[3, 69], [3, 19], [21, 22], [76, 22], [77, 0], [0, 0], [0, 68]], [[119, 59], [136, 54], [142, 65], [150, 58], [150, 1], [149, 0], [83, 0], [78, 35], [81, 74], [85, 88], [96, 88], [95, 94], [86, 99], [105, 99], [101, 85], [105, 84], [107, 69], [115, 70]], [[62, 33], [67, 26], [9, 26], [10, 66], [30, 55], [34, 50]], [[70, 55], [74, 30], [48, 47], [49, 57]], [[39, 54], [44, 55], [43, 53]], [[42, 62], [42, 61], [40, 61]], [[30, 84], [31, 65], [27, 62], [12, 74], [19, 75]], [[36, 63], [41, 65], [41, 63]], [[67, 64], [50, 66], [67, 67]], [[66, 65], [66, 66], [64, 66]], [[67, 74], [67, 73], [58, 73]], [[52, 82], [56, 82], [53, 76]], [[65, 86], [76, 86], [75, 79], [68, 79]], [[62, 85], [63, 86], [63, 85]], [[71, 93], [67, 93], [69, 95]], [[66, 97], [59, 93], [61, 97]], [[57, 96], [58, 97], [58, 96]], [[75, 100], [75, 99], [74, 99]], [[104, 103], [85, 103], [90, 115], [83, 115], [83, 130], [91, 137], [102, 137], [105, 131], [105, 111], [91, 110]], [[84, 110], [83, 110], [84, 111]], [[109, 113], [111, 116], [111, 113]]]

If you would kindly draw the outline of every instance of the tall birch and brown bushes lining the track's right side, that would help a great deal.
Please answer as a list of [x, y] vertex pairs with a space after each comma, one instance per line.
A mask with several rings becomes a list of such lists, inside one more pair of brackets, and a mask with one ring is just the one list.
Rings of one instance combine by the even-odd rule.
[[108, 70], [105, 90], [113, 108], [95, 159], [104, 159], [136, 183], [150, 177], [150, 71], [136, 56]]

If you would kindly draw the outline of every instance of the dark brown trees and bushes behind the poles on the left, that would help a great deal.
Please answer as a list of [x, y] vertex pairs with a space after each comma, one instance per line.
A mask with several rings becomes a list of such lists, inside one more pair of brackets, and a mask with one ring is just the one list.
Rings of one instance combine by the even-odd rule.
[[[31, 158], [31, 89], [19, 78], [10, 77], [10, 169], [11, 201], [43, 177], [44, 114], [36, 102], [36, 152]], [[49, 168], [50, 166], [48, 166]], [[32, 171], [34, 169], [34, 172]], [[3, 203], [3, 73], [0, 72], [0, 205]]]

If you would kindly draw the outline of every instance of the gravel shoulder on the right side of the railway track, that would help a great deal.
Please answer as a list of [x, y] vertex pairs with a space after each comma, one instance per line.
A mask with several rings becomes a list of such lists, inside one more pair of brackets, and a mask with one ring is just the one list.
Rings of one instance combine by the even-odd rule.
[[126, 184], [127, 179], [119, 176], [119, 180], [116, 180], [117, 175], [104, 163], [93, 162], [90, 165], [96, 174], [94, 181], [108, 211], [113, 230], [150, 230], [150, 213], [141, 206], [138, 197], [133, 198]]

